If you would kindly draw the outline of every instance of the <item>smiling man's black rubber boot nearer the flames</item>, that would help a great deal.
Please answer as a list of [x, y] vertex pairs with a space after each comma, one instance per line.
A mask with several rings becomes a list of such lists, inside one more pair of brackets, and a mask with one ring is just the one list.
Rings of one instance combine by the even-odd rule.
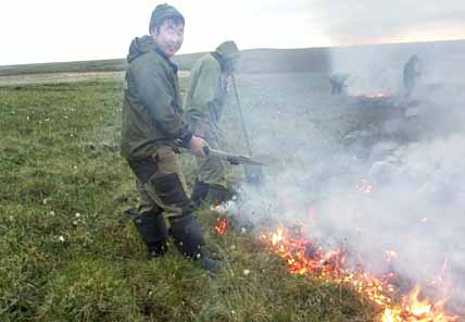
[[171, 219], [171, 224], [169, 234], [173, 236], [176, 247], [186, 258], [198, 261], [205, 271], [211, 273], [221, 270], [221, 263], [209, 258], [202, 251], [205, 242], [198, 222], [191, 214]]

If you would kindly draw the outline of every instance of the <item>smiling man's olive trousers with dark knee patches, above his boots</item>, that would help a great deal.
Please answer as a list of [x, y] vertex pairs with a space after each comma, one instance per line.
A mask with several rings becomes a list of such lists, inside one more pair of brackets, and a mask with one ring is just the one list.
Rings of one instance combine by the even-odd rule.
[[129, 165], [137, 177], [139, 213], [163, 212], [166, 218], [174, 218], [192, 212], [173, 147], [159, 146], [151, 158], [129, 161]]

